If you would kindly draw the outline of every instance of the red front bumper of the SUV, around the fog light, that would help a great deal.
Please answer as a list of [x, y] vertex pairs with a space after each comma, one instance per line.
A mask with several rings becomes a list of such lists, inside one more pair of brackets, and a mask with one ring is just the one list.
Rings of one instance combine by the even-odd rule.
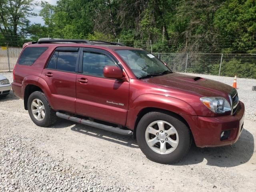
[[[244, 125], [244, 104], [239, 101], [234, 115], [205, 117], [181, 114], [188, 122], [192, 131], [196, 146], [216, 147], [234, 144]], [[225, 140], [220, 140], [220, 134], [224, 130], [230, 130], [230, 135]]]

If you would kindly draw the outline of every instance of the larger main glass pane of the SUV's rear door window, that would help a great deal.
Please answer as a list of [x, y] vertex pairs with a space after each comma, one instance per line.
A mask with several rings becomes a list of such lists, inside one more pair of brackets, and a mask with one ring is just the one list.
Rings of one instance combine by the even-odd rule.
[[76, 59], [78, 52], [59, 52], [56, 69], [68, 72], [76, 71]]

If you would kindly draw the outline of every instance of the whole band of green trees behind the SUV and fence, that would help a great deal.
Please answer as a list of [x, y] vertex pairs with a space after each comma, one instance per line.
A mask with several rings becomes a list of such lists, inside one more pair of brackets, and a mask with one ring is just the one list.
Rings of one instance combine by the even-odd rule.
[[0, 5], [2, 41], [16, 46], [24, 37], [50, 36], [120, 39], [150, 51], [151, 40], [153, 52], [256, 53], [255, 0], [58, 0], [56, 6], [42, 1], [44, 26], [28, 21], [35, 15], [32, 0]]

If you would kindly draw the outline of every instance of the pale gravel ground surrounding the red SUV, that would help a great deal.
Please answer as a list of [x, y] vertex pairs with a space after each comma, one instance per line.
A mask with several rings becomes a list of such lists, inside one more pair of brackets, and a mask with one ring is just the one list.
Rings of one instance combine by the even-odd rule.
[[10, 93], [0, 99], [0, 191], [256, 191], [255, 84], [238, 78], [240, 100], [250, 110], [236, 144], [192, 146], [174, 165], [149, 161], [130, 136], [61, 119], [38, 127]]

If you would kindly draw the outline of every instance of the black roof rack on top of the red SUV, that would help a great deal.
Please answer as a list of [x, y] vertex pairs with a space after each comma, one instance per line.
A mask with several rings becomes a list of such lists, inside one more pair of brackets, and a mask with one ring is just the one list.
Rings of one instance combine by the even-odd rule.
[[86, 43], [90, 45], [100, 44], [100, 45], [119, 45], [124, 46], [122, 43], [118, 42], [107, 42], [107, 41], [97, 41], [97, 40], [83, 40], [83, 39], [54, 39], [54, 38], [41, 38], [37, 42], [42, 43]]

